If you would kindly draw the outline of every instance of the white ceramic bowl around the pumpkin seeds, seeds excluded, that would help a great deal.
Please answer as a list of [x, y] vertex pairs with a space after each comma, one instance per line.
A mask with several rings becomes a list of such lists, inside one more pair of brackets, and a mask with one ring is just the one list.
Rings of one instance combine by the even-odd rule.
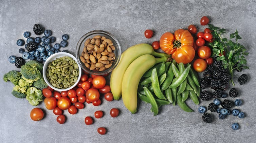
[[[55, 60], [56, 58], [60, 58], [60, 57], [63, 57], [63, 56], [68, 56], [68, 57], [71, 57], [72, 59], [74, 59], [78, 65], [78, 68], [79, 68], [79, 75], [78, 75], [78, 78], [77, 78], [77, 81], [75, 82], [75, 84], [73, 84], [71, 87], [69, 88], [65, 88], [65, 89], [59, 89], [59, 88], [56, 88], [56, 87], [53, 87], [49, 81], [47, 80], [47, 77], [46, 77], [46, 69], [47, 69], [47, 66], [50, 62], [52, 62], [53, 60]], [[52, 89], [56, 90], [56, 91], [67, 91], [67, 90], [70, 90], [72, 88], [74, 88], [77, 83], [79, 82], [80, 78], [81, 78], [81, 75], [82, 75], [82, 70], [81, 70], [81, 67], [80, 65], [78, 64], [77, 60], [76, 60], [76, 57], [74, 57], [72, 54], [69, 54], [69, 53], [66, 53], [66, 52], [59, 52], [59, 53], [55, 53], [53, 55], [51, 55], [45, 62], [44, 62], [44, 65], [43, 65], [43, 79], [44, 81], [48, 84], [48, 86], [50, 86]]]

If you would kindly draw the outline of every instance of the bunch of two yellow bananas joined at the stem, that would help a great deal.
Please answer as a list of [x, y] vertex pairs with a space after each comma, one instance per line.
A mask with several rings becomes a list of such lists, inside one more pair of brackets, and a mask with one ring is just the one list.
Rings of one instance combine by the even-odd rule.
[[[155, 58], [160, 57], [160, 58]], [[120, 62], [112, 71], [110, 88], [115, 100], [121, 94], [125, 107], [137, 111], [137, 90], [141, 77], [155, 64], [164, 62], [170, 55], [155, 52], [151, 45], [137, 44], [122, 53]]]

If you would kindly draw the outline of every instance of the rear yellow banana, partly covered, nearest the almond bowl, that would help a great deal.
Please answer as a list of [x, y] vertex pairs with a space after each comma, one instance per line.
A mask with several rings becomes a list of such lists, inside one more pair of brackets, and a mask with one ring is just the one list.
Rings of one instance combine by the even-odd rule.
[[134, 45], [124, 51], [121, 55], [120, 62], [112, 71], [110, 77], [111, 92], [115, 100], [118, 100], [121, 97], [122, 80], [125, 70], [132, 61], [144, 54], [151, 54], [157, 57], [163, 57], [167, 55], [165, 53], [155, 52], [151, 45], [145, 43]]

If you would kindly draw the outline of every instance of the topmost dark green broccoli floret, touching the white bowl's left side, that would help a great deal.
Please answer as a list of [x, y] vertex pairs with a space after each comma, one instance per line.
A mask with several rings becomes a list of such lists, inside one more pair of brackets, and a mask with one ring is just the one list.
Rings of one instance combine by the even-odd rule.
[[20, 73], [25, 79], [33, 81], [37, 81], [41, 77], [41, 72], [37, 69], [37, 67], [28, 64], [21, 66]]

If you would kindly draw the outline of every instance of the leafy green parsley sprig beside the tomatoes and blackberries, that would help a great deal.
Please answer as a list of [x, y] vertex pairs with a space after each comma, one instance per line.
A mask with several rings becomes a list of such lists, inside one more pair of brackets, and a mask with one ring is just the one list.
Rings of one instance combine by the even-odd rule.
[[238, 31], [236, 30], [234, 33], [231, 33], [229, 39], [227, 39], [223, 37], [224, 33], [227, 32], [226, 29], [220, 29], [212, 24], [208, 26], [214, 38], [213, 42], [209, 43], [209, 46], [213, 50], [212, 56], [217, 57], [217, 61], [222, 61], [224, 68], [228, 68], [231, 74], [231, 82], [233, 86], [235, 86], [233, 82], [234, 69], [249, 69], [249, 66], [246, 66], [247, 61], [245, 58], [248, 52], [243, 45], [238, 43], [238, 40], [242, 38], [238, 35]]

